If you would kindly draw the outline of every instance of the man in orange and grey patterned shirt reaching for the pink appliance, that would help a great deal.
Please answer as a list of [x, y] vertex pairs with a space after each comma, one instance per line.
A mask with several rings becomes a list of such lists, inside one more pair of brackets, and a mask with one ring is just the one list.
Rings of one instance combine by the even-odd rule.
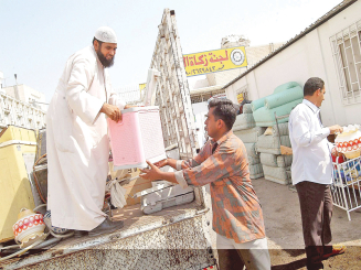
[[[142, 170], [141, 177], [167, 180], [183, 187], [211, 184], [217, 249], [236, 249], [247, 269], [270, 269], [263, 213], [251, 183], [246, 150], [232, 132], [235, 118], [231, 100], [211, 100], [205, 126], [213, 139], [193, 159], [167, 159], [156, 165], [148, 162], [150, 169]], [[178, 171], [160, 171], [164, 165]]]

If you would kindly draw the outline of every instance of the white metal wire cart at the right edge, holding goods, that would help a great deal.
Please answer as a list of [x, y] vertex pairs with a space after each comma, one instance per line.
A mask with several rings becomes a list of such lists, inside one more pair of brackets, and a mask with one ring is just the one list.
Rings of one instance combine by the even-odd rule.
[[361, 207], [361, 156], [343, 163], [338, 159], [333, 162], [332, 201], [351, 220], [350, 212]]

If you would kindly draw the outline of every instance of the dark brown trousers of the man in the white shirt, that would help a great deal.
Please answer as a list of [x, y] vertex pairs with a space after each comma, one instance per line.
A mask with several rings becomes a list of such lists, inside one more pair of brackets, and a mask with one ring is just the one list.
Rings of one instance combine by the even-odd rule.
[[330, 185], [312, 182], [296, 184], [307, 257], [317, 256], [332, 240], [332, 196]]

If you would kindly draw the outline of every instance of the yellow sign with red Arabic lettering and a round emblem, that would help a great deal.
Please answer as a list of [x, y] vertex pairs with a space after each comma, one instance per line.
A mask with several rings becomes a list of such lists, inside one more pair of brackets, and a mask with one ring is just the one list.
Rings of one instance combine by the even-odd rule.
[[183, 55], [188, 77], [247, 66], [244, 46]]

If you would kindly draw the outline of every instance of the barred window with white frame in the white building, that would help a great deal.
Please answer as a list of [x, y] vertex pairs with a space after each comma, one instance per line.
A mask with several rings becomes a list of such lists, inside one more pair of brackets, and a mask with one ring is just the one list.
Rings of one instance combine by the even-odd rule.
[[331, 47], [344, 105], [361, 102], [361, 20], [331, 36]]

